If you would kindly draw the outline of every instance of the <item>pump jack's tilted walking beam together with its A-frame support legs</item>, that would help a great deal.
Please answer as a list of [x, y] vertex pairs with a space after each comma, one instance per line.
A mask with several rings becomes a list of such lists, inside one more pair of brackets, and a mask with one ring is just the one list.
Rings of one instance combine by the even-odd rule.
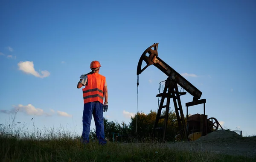
[[[172, 67], [170, 67], [163, 60], [161, 60], [158, 57], [157, 47], [158, 47], [158, 43], [154, 43], [154, 45], [151, 45], [150, 47], [148, 47], [141, 55], [138, 66], [137, 66], [137, 75], [140, 75], [148, 66], [153, 64], [155, 67], [160, 69], [163, 73], [165, 73], [168, 76], [168, 78], [166, 80], [164, 92], [162, 94], [157, 95], [157, 97], [160, 96], [162, 98], [161, 98], [160, 106], [159, 106], [159, 109], [157, 112], [157, 117], [156, 117], [156, 121], [154, 124], [153, 134], [154, 134], [155, 130], [161, 129], [160, 127], [157, 127], [157, 125], [159, 123], [159, 120], [164, 118], [165, 121], [164, 121], [164, 126], [163, 126], [163, 140], [165, 139], [170, 98], [172, 98], [173, 102], [174, 102], [174, 106], [175, 106], [175, 112], [177, 115], [179, 129], [180, 129], [180, 131], [183, 130], [184, 135], [187, 137], [186, 124], [185, 124], [183, 110], [182, 110], [182, 106], [181, 106], [181, 102], [180, 102], [180, 95], [185, 95], [186, 92], [179, 92], [178, 88], [177, 88], [177, 84], [180, 85], [180, 87], [185, 89], [187, 92], [189, 92], [189, 94], [191, 94], [193, 96], [193, 103], [198, 102], [198, 99], [201, 98], [202, 92], [199, 91], [191, 83], [189, 83], [189, 81], [187, 81], [185, 78], [183, 78], [183, 76], [180, 75], [179, 73], [177, 73]], [[143, 69], [142, 69], [141, 66], [142, 66], [143, 61], [145, 61], [146, 66], [143, 67]], [[167, 92], [167, 89], [168, 89], [168, 92]], [[164, 106], [163, 102], [164, 102], [165, 98], [167, 98], [167, 103]], [[178, 103], [178, 105], [177, 105], [177, 103]], [[161, 117], [160, 115], [161, 115], [162, 108], [166, 108], [166, 114]]]

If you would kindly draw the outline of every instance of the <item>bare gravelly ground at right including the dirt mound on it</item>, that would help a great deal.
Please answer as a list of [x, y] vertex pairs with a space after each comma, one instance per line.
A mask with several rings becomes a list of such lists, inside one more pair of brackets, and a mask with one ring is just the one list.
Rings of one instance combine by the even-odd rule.
[[177, 150], [256, 157], [256, 136], [241, 137], [234, 131], [218, 130], [195, 141], [169, 143], [168, 147]]

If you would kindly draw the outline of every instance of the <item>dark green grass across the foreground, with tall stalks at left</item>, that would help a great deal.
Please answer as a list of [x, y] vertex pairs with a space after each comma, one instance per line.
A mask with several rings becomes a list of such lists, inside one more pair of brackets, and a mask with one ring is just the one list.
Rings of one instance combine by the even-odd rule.
[[[97, 141], [81, 144], [79, 137], [64, 129], [29, 132], [24, 127], [0, 126], [0, 161], [24, 162], [253, 162], [256, 158], [170, 149], [158, 143]], [[44, 131], [44, 132], [43, 132]]]

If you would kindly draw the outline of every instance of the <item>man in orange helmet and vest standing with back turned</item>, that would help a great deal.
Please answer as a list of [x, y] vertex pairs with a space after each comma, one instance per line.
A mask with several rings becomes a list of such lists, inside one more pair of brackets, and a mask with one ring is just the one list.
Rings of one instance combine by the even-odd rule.
[[[96, 126], [96, 136], [99, 144], [105, 145], [105, 131], [103, 112], [108, 111], [108, 88], [106, 77], [99, 74], [101, 64], [99, 61], [92, 61], [90, 73], [80, 76], [77, 88], [83, 88], [84, 111], [83, 111], [83, 132], [81, 142], [89, 143], [90, 123], [93, 119]], [[105, 102], [103, 103], [103, 98]]]

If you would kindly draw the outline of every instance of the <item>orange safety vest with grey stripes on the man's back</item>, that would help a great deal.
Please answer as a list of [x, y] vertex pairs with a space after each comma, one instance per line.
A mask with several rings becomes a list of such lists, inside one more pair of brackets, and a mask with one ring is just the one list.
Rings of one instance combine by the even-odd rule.
[[87, 74], [87, 86], [83, 88], [84, 103], [99, 101], [103, 104], [105, 82], [105, 76], [99, 73]]

